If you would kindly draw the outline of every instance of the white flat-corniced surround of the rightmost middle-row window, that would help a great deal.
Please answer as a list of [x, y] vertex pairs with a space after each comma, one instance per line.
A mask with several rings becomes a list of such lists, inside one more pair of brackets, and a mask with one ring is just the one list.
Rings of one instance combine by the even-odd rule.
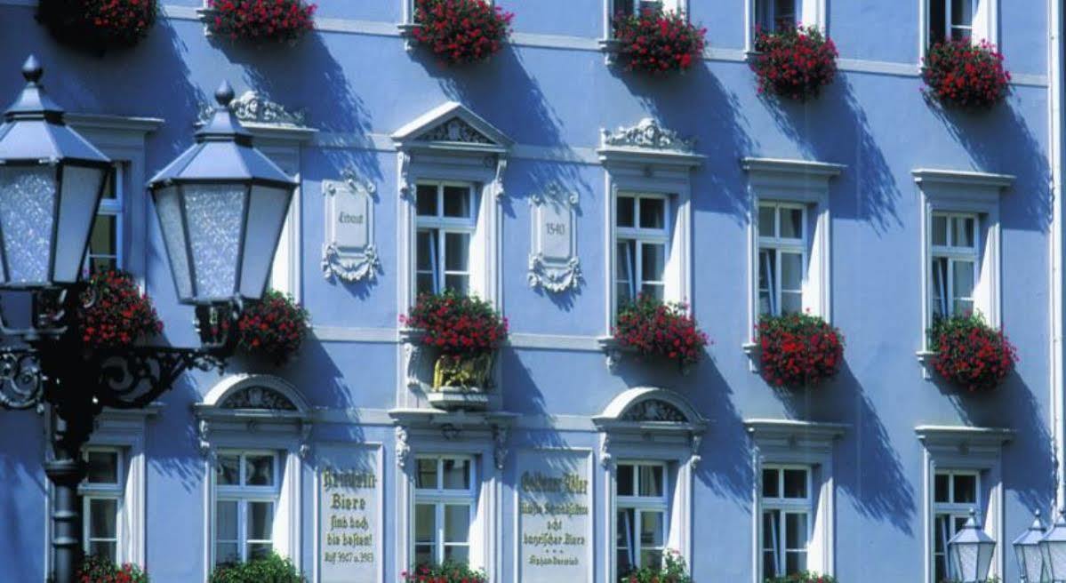
[[[933, 215], [969, 214], [980, 218], [975, 241], [979, 261], [973, 286], [973, 310], [981, 312], [990, 326], [999, 328], [1002, 325], [999, 207], [1001, 196], [1014, 183], [1014, 176], [928, 168], [916, 168], [911, 174], [921, 200], [919, 282], [922, 321], [918, 330], [920, 347], [917, 356], [924, 363], [931, 355], [926, 330], [933, 325]], [[923, 375], [928, 376], [924, 367]]]

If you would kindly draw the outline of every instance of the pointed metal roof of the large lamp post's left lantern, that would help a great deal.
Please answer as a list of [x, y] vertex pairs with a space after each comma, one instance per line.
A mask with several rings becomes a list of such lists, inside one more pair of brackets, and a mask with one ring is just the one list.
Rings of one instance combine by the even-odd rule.
[[63, 108], [45, 93], [44, 68], [32, 54], [22, 65], [26, 86], [4, 112], [0, 127], [0, 160], [29, 163], [74, 160], [110, 164], [111, 160], [63, 120]]

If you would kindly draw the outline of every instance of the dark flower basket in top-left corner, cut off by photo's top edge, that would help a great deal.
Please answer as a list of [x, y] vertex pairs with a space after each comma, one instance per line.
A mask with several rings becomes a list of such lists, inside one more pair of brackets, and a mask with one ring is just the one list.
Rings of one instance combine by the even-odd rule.
[[39, 0], [37, 21], [60, 43], [103, 51], [140, 43], [158, 11], [157, 0]]

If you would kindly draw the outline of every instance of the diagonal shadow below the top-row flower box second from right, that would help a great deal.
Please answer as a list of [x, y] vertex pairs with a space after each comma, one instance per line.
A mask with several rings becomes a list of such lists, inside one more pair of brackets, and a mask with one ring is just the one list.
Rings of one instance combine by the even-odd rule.
[[847, 164], [834, 190], [855, 196], [846, 206], [844, 200], [834, 200], [834, 216], [866, 221], [876, 232], [903, 226], [897, 209], [899, 184], [847, 75], [838, 72], [833, 84], [806, 102], [765, 94], [759, 100], [785, 135], [812, 160]]

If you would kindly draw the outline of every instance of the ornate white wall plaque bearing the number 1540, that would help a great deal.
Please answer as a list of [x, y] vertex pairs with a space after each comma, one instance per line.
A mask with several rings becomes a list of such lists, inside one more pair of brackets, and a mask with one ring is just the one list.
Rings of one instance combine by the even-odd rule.
[[529, 284], [559, 293], [581, 284], [578, 258], [578, 193], [564, 192], [558, 183], [530, 196], [533, 220]]

